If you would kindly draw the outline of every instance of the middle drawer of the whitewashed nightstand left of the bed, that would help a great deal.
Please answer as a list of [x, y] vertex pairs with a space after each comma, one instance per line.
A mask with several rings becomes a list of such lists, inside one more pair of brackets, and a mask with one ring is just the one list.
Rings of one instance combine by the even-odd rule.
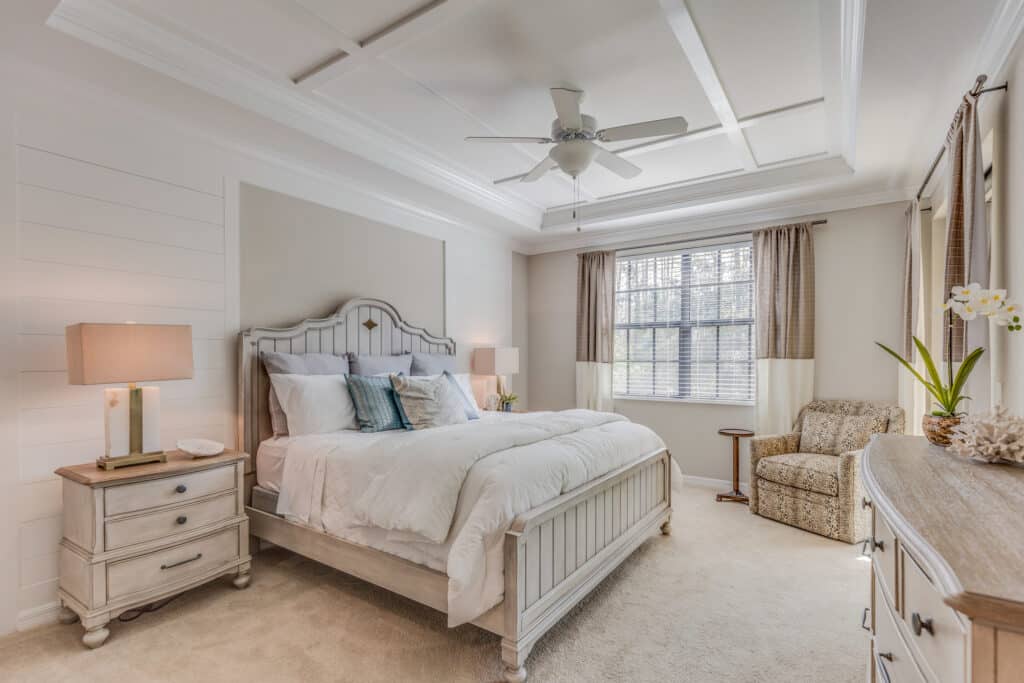
[[199, 503], [108, 521], [103, 524], [105, 548], [116, 550], [215, 524], [234, 517], [237, 508], [238, 496], [232, 490]]

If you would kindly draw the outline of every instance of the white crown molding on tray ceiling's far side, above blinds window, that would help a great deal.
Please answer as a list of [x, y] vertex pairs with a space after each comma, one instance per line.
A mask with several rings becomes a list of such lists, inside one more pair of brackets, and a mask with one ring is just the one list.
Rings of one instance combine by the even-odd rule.
[[[577, 211], [581, 223], [587, 228], [628, 226], [644, 222], [656, 215], [660, 215], [664, 219], [664, 214], [682, 212], [702, 204], [764, 195], [792, 185], [819, 182], [852, 173], [853, 169], [845, 159], [830, 157], [715, 180], [673, 185], [636, 196], [592, 202], [581, 206]], [[545, 214], [543, 231], [549, 232], [574, 225], [571, 208], [559, 208]]]

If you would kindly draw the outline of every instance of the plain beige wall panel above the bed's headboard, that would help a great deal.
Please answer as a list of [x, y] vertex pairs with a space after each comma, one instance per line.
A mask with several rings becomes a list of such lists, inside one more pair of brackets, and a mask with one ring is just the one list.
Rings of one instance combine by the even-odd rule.
[[440, 240], [248, 184], [240, 212], [242, 329], [286, 327], [369, 296], [445, 334]]

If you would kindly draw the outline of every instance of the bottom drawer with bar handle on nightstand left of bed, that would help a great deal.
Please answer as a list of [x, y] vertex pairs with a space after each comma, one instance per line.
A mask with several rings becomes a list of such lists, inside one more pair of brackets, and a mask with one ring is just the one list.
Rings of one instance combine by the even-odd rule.
[[231, 527], [180, 546], [106, 567], [110, 599], [187, 581], [239, 558], [239, 528]]

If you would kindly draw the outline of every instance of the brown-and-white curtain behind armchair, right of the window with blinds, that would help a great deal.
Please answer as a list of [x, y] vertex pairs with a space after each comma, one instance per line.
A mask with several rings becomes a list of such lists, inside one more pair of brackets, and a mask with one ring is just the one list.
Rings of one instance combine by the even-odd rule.
[[754, 232], [756, 424], [788, 432], [814, 395], [814, 234], [811, 223]]

